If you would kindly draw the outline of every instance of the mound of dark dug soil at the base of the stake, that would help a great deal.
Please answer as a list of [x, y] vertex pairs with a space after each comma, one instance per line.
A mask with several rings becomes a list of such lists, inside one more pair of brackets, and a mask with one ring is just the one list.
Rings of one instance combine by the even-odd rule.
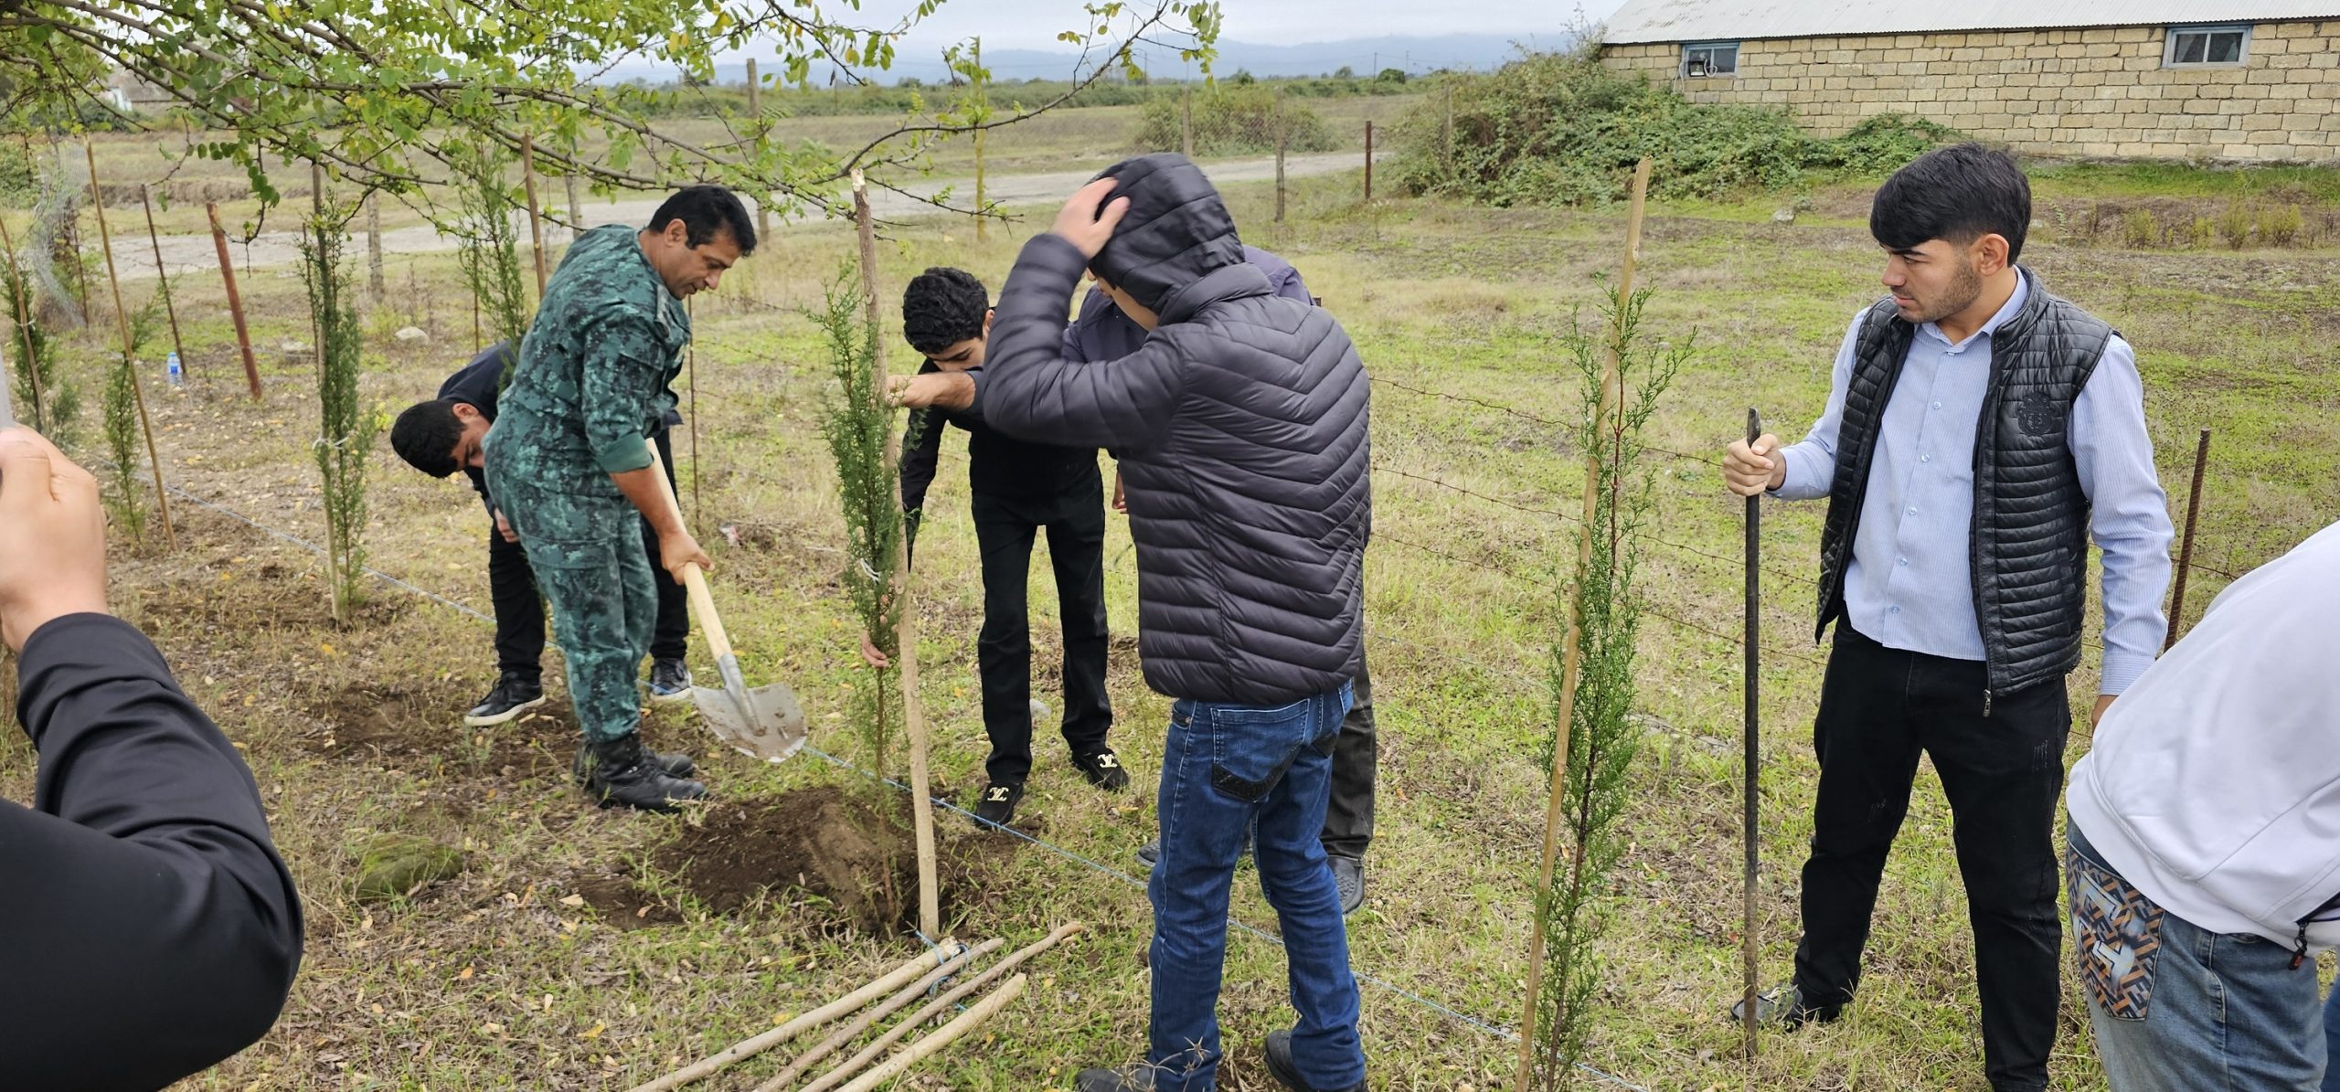
[[[714, 804], [660, 846], [651, 863], [707, 910], [735, 914], [775, 893], [803, 893], [840, 926], [873, 935], [917, 926], [917, 842], [910, 807], [838, 786], [798, 788], [775, 800]], [[936, 839], [945, 924], [992, 903], [997, 877], [1020, 842], [941, 830]], [[672, 907], [625, 870], [583, 875], [576, 891], [620, 928], [676, 921]], [[945, 928], [948, 933], [950, 928]]]

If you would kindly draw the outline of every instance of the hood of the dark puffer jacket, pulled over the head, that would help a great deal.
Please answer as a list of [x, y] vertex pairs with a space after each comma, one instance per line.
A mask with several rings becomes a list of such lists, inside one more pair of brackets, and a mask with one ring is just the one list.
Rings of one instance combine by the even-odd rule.
[[1107, 166], [1097, 178], [1121, 182], [1104, 203], [1126, 196], [1130, 210], [1088, 269], [1163, 316], [1163, 323], [1172, 323], [1168, 306], [1182, 290], [1243, 264], [1236, 217], [1226, 215], [1219, 189], [1191, 159], [1177, 152], [1144, 154]]

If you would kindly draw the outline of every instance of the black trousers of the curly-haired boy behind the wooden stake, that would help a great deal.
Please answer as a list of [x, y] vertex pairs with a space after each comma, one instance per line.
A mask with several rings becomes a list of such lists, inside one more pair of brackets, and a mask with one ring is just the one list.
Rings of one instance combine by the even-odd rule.
[[983, 732], [992, 737], [985, 774], [1020, 786], [1032, 774], [1032, 617], [1025, 582], [1032, 540], [1048, 531], [1048, 566], [1065, 631], [1065, 744], [1074, 755], [1104, 748], [1114, 709], [1104, 697], [1104, 484], [1041, 498], [973, 493], [976, 545], [983, 550], [983, 631], [976, 673], [983, 683]]

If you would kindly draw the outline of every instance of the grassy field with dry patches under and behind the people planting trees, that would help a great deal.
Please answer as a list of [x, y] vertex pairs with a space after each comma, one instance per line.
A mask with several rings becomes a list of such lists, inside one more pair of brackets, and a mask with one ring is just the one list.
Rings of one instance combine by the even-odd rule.
[[[1062, 145], [1048, 154], [1114, 154], [1104, 145], [1074, 152], [1072, 129], [1086, 122], [1067, 115]], [[1367, 568], [1381, 830], [1369, 903], [1350, 921], [1355, 966], [1374, 980], [1364, 991], [1374, 1087], [1491, 1090], [1509, 1078], [1514, 1043], [1479, 1024], [1519, 1020], [1526, 877], [1542, 816], [1537, 755], [1551, 723], [1542, 671], [1558, 638], [1554, 582], [1575, 550], [1558, 512], [1575, 510], [1582, 484], [1582, 463], [1558, 442], [1577, 386], [1556, 334], [1589, 313], [1594, 276], [1617, 264], [1622, 215], [1360, 206], [1353, 175], [1296, 189], [1282, 229], [1268, 224], [1266, 187], [1231, 199], [1247, 241], [1299, 264], [1376, 379]], [[1657, 290], [1647, 330], [1696, 334], [1699, 353], [1650, 435], [1668, 451], [1650, 463], [1659, 517], [1643, 568], [1640, 694], [1654, 723], [1633, 774], [1633, 846], [1617, 870], [1605, 1010], [1589, 1052], [1633, 1087], [1741, 1080], [1736, 1029], [1720, 1020], [1739, 989], [1739, 503], [1711, 456], [1750, 405], [1783, 435], [1799, 433], [1821, 409], [1844, 323], [1877, 295], [1879, 257], [1860, 227], [1858, 187], [1816, 194], [1795, 224], [1767, 222], [1771, 206], [1654, 208], [1643, 253], [1643, 283]], [[955, 224], [910, 229], [882, 250], [882, 283], [894, 292], [927, 264], [962, 264], [997, 290], [1018, 241], [1020, 231], [973, 246]], [[697, 437], [676, 447], [746, 676], [793, 683], [814, 744], [859, 762], [849, 727], [866, 673], [838, 585], [835, 482], [817, 433], [831, 383], [803, 318], [845, 257], [840, 231], [796, 231], [700, 302], [702, 374], [686, 395]], [[2216, 428], [2188, 615], [2232, 573], [2340, 514], [2331, 353], [2340, 318], [2328, 309], [2340, 253], [2134, 253], [2047, 236], [2026, 257], [2052, 290], [2139, 346], [2179, 512], [2195, 433]], [[494, 680], [487, 624], [377, 585], [360, 627], [330, 627], [316, 554], [225, 514], [321, 540], [307, 458], [311, 362], [267, 353], [269, 393], [250, 405], [239, 395], [218, 283], [190, 278], [180, 292], [194, 379], [183, 393], [157, 383], [150, 398], [166, 475], [185, 491], [173, 503], [183, 550], [119, 542], [117, 608], [154, 634], [180, 683], [250, 758], [309, 907], [309, 959], [283, 1022], [185, 1087], [629, 1087], [917, 952], [913, 938], [842, 926], [791, 875], [751, 877], [772, 884], [758, 891], [674, 851], [770, 839], [770, 804], [784, 793], [859, 790], [861, 774], [812, 755], [784, 767], [714, 755], [688, 718], [660, 713], [653, 741], [700, 751], [718, 802], [679, 818], [592, 811], [566, 786], [573, 723], [564, 706], [501, 730], [456, 727]], [[290, 271], [262, 271], [246, 292], [262, 346], [309, 337]], [[391, 341], [402, 325], [433, 341]], [[367, 327], [379, 353], [367, 400], [395, 412], [428, 398], [470, 353], [452, 260], [393, 260], [388, 299]], [[908, 367], [899, 344], [887, 351], [896, 369]], [[87, 341], [73, 353], [94, 391], [103, 348]], [[1776, 505], [1767, 519], [1762, 942], [1771, 980], [1790, 970], [1809, 837], [1818, 524], [1818, 505]], [[384, 447], [372, 566], [487, 610], [484, 533], [468, 491], [405, 470]], [[1168, 699], [1140, 680], [1135, 566], [1119, 519], [1109, 535], [1116, 744], [1142, 790], [1090, 790], [1062, 746], [1041, 739], [1020, 818], [1067, 853], [1135, 872], [1130, 853], [1154, 828]], [[1055, 596], [1039, 559], [1034, 573], [1034, 662], [1051, 664]], [[917, 580], [938, 781], [964, 804], [980, 783], [985, 744], [973, 683], [980, 582], [959, 444], [945, 444]], [[704, 657], [695, 666], [711, 671]], [[2076, 697], [2094, 685], [2092, 671], [2073, 676]], [[1039, 694], [1053, 701], [1046, 678]], [[2069, 758], [2085, 748], [2076, 732]], [[19, 800], [30, 790], [30, 753], [14, 737], [0, 744], [0, 788]], [[950, 814], [943, 830], [957, 877], [945, 905], [955, 935], [1004, 935], [1018, 947], [1067, 919], [1093, 931], [1037, 961], [1025, 1001], [903, 1087], [1055, 1090], [1083, 1064], [1135, 1059], [1147, 1012], [1135, 959], [1149, 924], [1142, 891], [1041, 846], [976, 837]], [[349, 884], [358, 849], [377, 832], [461, 846], [470, 868], [410, 898], [360, 903]], [[1273, 931], [1250, 868], [1238, 875], [1236, 917]], [[1238, 931], [1226, 982], [1224, 1085], [1271, 1087], [1257, 1043], [1292, 1020], [1280, 952]], [[709, 1087], [746, 1087], [782, 1064], [758, 1059]], [[1886, 875], [1860, 1001], [1839, 1024], [1767, 1038], [1757, 1085], [1982, 1090], [1980, 1069], [1949, 814], [1926, 774]], [[2076, 998], [2055, 1087], [2104, 1087]]]

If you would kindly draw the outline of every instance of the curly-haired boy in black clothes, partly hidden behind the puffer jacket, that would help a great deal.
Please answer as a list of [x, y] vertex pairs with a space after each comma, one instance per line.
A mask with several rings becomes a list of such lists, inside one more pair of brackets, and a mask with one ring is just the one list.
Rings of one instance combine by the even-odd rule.
[[[927, 269], [901, 295], [901, 332], [931, 374], [973, 374], [992, 327], [990, 292], [964, 269]], [[983, 550], [983, 634], [976, 673], [983, 683], [983, 732], [992, 739], [990, 783], [976, 818], [1006, 825], [1032, 774], [1032, 622], [1025, 585], [1032, 540], [1048, 531], [1048, 564], [1065, 629], [1065, 744], [1090, 786], [1121, 790], [1130, 774], [1104, 744], [1114, 723], [1104, 697], [1104, 482], [1095, 447], [1034, 444], [983, 423], [973, 409], [934, 407], [915, 414], [901, 444], [901, 505], [917, 540], [927, 486], [943, 447], [943, 426], [966, 433], [966, 486]], [[882, 655], [863, 643], [863, 655]]]

